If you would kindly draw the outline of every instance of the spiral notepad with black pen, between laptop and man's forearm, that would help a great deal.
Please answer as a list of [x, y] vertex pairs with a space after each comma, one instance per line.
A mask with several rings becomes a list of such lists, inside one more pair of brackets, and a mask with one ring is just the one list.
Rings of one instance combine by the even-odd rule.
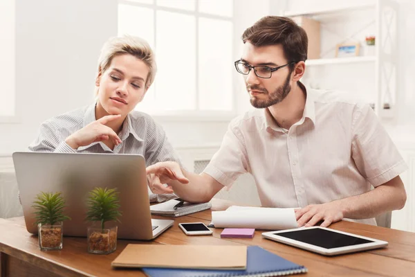
[[[179, 204], [179, 208], [174, 206]], [[151, 205], [150, 211], [153, 215], [165, 215], [170, 217], [179, 217], [182, 215], [189, 215], [190, 213], [197, 213], [200, 211], [208, 210], [212, 207], [210, 202], [193, 204], [189, 202], [182, 202], [181, 199], [170, 199], [167, 202]]]

